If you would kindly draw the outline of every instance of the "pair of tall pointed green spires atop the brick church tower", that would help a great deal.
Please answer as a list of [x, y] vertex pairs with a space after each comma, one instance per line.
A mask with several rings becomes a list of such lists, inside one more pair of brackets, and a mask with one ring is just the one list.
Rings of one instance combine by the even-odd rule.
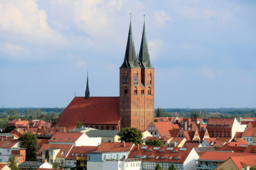
[[146, 29], [145, 29], [145, 15], [144, 15], [143, 33], [141, 38], [140, 50], [139, 50], [139, 58], [138, 57], [136, 58], [132, 27], [131, 27], [131, 21], [130, 21], [125, 59], [120, 68], [153, 68], [153, 66], [150, 63], [150, 57], [148, 52], [148, 42], [147, 42]]

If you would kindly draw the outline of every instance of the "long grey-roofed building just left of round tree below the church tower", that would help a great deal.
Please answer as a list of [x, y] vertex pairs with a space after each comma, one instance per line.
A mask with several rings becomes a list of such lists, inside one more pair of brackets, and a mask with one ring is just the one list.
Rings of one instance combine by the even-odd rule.
[[101, 137], [101, 142], [120, 142], [119, 130], [90, 130], [85, 132], [88, 137]]

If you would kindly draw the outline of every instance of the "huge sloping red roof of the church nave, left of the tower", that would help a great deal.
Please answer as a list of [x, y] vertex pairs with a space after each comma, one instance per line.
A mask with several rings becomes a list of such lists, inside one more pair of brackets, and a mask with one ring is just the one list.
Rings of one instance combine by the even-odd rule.
[[70, 130], [78, 121], [84, 124], [118, 124], [120, 119], [119, 97], [75, 97], [58, 117], [56, 125]]

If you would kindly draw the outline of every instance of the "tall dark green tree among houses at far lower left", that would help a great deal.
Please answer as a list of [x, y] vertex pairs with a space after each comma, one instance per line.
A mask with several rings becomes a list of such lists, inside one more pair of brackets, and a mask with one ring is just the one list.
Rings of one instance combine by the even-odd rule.
[[38, 140], [35, 134], [26, 132], [20, 137], [21, 148], [26, 149], [26, 161], [37, 161], [36, 153], [38, 148]]

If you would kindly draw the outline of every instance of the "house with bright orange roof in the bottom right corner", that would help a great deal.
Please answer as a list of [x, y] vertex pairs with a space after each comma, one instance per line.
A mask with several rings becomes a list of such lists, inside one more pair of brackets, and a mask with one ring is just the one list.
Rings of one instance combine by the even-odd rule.
[[249, 170], [250, 167], [256, 166], [256, 155], [230, 157], [219, 164], [215, 170]]

